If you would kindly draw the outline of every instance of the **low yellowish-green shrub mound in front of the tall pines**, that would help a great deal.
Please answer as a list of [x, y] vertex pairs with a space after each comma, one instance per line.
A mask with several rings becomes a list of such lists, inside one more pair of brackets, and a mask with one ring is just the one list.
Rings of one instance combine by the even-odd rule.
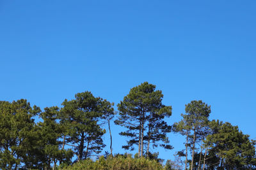
[[132, 158], [131, 155], [116, 155], [115, 157], [100, 157], [99, 160], [93, 162], [91, 159], [76, 162], [72, 166], [63, 169], [95, 169], [95, 170], [108, 170], [108, 169], [124, 169], [124, 170], [163, 170], [163, 166], [156, 160], [141, 158]]

